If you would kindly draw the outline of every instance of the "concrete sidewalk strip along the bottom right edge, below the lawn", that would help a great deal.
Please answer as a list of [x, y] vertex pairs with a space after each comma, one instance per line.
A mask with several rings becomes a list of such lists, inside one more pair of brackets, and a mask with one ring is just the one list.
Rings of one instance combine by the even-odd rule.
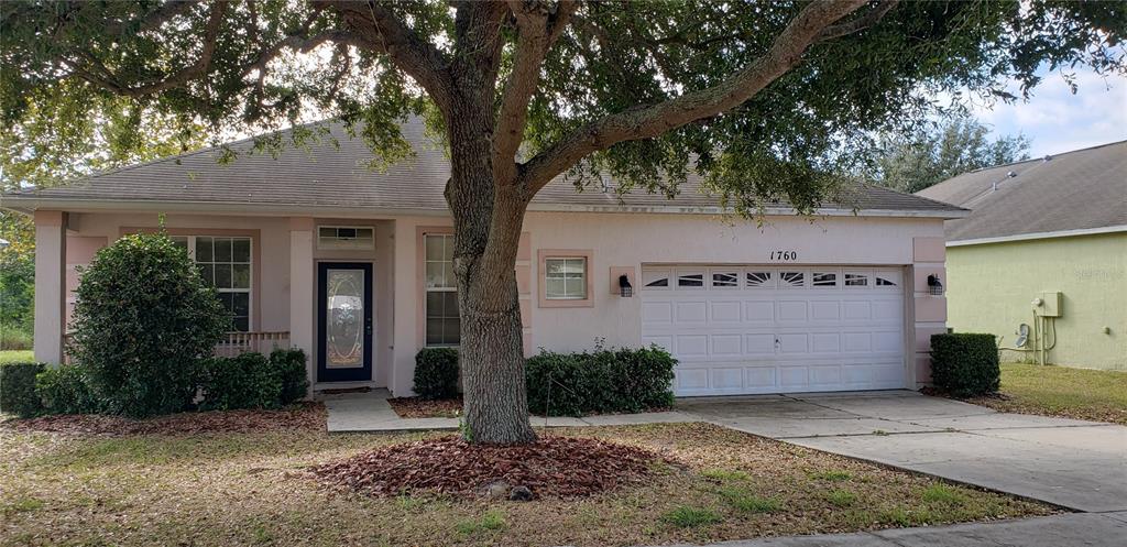
[[1127, 513], [1068, 513], [1001, 522], [725, 541], [710, 547], [1122, 547], [1125, 538]]

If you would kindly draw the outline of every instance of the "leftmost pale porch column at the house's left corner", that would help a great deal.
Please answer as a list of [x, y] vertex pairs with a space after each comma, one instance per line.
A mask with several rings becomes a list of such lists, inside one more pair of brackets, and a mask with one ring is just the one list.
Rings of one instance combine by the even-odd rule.
[[66, 213], [35, 212], [35, 360], [63, 362], [66, 317]]

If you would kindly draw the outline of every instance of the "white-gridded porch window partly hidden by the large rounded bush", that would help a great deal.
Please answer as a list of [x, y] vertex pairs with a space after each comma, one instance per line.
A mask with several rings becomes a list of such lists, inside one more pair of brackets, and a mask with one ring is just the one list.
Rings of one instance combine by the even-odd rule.
[[254, 279], [251, 241], [246, 236], [171, 236], [188, 252], [199, 275], [219, 292], [234, 320], [234, 330], [250, 330], [250, 292]]

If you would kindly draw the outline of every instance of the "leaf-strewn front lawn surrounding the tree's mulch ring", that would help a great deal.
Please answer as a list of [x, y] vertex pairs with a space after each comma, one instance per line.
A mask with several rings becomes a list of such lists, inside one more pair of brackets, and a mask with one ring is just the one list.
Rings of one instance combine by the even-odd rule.
[[1056, 511], [708, 424], [548, 434], [645, 447], [671, 462], [646, 484], [578, 500], [369, 497], [308, 469], [429, 434], [0, 429], [0, 545], [654, 545]]

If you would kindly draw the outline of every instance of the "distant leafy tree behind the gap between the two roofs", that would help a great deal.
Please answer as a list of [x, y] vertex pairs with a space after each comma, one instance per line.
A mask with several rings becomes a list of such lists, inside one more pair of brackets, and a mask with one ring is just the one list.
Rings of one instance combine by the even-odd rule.
[[1029, 159], [1029, 139], [990, 140], [990, 127], [960, 116], [919, 134], [885, 135], [867, 175], [877, 184], [915, 193], [967, 171]]

